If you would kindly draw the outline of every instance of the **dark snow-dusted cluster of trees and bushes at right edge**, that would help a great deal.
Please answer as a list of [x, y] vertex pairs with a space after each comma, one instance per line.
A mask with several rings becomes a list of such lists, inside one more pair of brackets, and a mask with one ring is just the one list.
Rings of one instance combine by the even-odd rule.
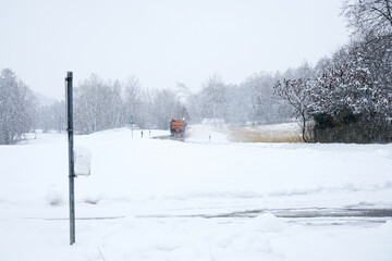
[[351, 41], [311, 77], [278, 80], [275, 94], [303, 123], [304, 141], [392, 141], [392, 1], [344, 1]]

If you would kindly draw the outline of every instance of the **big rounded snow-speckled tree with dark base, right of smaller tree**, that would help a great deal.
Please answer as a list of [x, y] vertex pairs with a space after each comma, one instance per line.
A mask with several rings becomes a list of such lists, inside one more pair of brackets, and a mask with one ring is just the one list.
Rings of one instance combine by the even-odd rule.
[[391, 54], [376, 59], [372, 44], [352, 41], [320, 60], [311, 111], [318, 141], [375, 142], [391, 139]]

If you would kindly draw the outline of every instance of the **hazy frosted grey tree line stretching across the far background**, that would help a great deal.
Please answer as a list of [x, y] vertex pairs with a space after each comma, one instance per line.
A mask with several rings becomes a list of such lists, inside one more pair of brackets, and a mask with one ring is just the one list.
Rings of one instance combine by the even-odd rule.
[[[123, 127], [131, 123], [131, 119], [143, 129], [168, 129], [172, 117], [184, 117], [191, 123], [211, 119], [215, 123], [224, 122], [232, 126], [286, 122], [291, 121], [293, 110], [283, 99], [274, 96], [273, 84], [278, 79], [301, 77], [309, 72], [308, 64], [283, 74], [261, 72], [238, 85], [225, 84], [221, 76], [213, 74], [198, 92], [192, 92], [181, 83], [176, 84], [174, 90], [157, 90], [143, 88], [135, 76], [121, 83], [91, 74], [74, 87], [74, 128], [78, 134], [90, 134]], [[1, 112], [8, 115], [12, 114], [10, 110], [17, 112], [21, 116], [14, 119], [24, 124], [21, 127], [10, 123], [8, 126], [13, 126], [17, 132], [11, 135], [13, 138], [3, 139], [2, 144], [14, 144], [23, 133], [33, 129], [65, 130], [64, 100], [39, 105], [28, 87], [9, 69], [2, 71], [0, 80], [4, 83], [1, 86], [8, 88], [8, 91], [2, 91], [1, 100], [8, 110]], [[12, 97], [20, 96], [15, 86], [24, 88], [28, 102], [21, 101], [15, 105]], [[13, 91], [16, 91], [14, 96], [9, 95]]]

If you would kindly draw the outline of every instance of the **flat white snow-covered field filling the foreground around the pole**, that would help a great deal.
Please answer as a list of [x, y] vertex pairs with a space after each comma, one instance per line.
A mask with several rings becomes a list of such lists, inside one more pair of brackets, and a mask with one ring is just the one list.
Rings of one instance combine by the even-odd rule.
[[0, 146], [0, 260], [392, 260], [392, 145], [164, 135], [75, 137], [93, 162], [73, 246], [66, 135]]

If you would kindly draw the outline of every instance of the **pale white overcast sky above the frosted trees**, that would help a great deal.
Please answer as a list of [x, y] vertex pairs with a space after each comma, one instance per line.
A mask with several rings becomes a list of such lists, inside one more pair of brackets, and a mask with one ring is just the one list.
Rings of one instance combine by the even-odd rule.
[[192, 90], [315, 64], [348, 40], [341, 0], [0, 0], [0, 69], [60, 99], [91, 73]]

